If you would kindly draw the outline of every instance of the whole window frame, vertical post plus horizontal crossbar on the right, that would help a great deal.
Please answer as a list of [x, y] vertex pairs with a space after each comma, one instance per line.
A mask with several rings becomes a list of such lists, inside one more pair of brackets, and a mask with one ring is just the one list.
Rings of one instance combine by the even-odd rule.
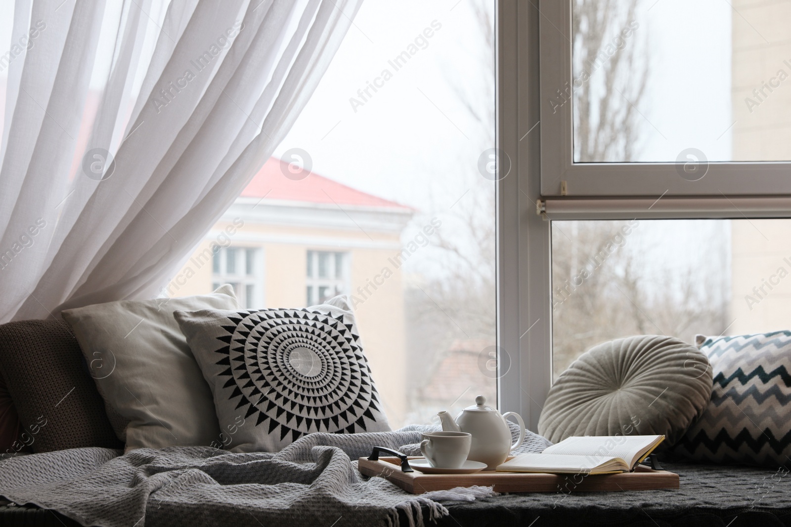
[[[498, 406], [531, 429], [552, 384], [551, 221], [789, 217], [791, 165], [710, 164], [689, 182], [675, 164], [573, 164], [570, 0], [496, 2]], [[561, 182], [566, 181], [566, 194]], [[628, 198], [626, 198], [628, 197]]]

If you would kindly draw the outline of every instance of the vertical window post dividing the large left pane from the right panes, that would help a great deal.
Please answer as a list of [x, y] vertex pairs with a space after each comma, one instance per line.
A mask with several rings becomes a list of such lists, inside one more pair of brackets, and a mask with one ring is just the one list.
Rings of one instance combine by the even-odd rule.
[[495, 10], [496, 147], [508, 157], [498, 171], [509, 168], [496, 178], [498, 407], [536, 430], [552, 380], [551, 238], [536, 214], [539, 13], [518, 0]]

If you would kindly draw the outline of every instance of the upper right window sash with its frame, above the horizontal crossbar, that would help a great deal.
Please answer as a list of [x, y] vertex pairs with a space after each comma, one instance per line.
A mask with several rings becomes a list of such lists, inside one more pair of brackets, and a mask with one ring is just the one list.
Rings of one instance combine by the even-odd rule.
[[540, 9], [543, 196], [791, 194], [784, 4]]

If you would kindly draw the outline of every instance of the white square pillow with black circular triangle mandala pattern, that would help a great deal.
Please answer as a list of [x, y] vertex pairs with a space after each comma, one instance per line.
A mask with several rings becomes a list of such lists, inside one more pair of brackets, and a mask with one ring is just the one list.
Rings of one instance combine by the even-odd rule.
[[214, 394], [214, 446], [276, 452], [311, 432], [390, 430], [345, 297], [175, 316]]

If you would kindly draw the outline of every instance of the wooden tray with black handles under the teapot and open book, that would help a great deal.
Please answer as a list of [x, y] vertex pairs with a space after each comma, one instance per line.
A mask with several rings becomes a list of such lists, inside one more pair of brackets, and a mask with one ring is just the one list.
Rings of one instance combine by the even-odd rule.
[[[420, 459], [410, 457], [409, 459]], [[572, 474], [525, 474], [484, 470], [475, 474], [424, 474], [401, 472], [398, 457], [380, 457], [369, 461], [360, 457], [359, 469], [365, 476], [383, 476], [412, 494], [443, 491], [453, 487], [494, 485], [495, 492], [584, 492], [584, 491], [649, 491], [655, 488], [678, 488], [679, 475], [666, 470], [653, 470], [639, 465], [634, 472], [580, 476]]]

